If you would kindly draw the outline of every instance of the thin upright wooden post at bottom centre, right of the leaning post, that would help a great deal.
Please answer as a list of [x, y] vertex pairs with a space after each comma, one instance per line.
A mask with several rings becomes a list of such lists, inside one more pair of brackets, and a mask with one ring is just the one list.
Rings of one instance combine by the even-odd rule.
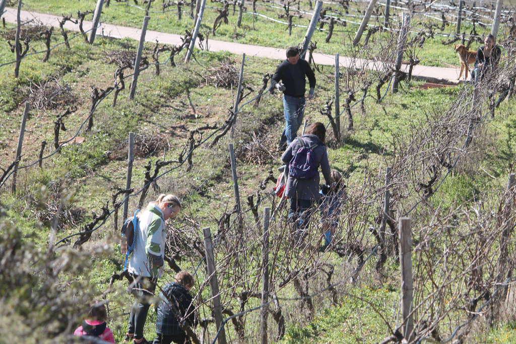
[[267, 344], [267, 307], [269, 302], [269, 220], [270, 208], [263, 209], [262, 231], [262, 308], [260, 308], [260, 334], [261, 344]]

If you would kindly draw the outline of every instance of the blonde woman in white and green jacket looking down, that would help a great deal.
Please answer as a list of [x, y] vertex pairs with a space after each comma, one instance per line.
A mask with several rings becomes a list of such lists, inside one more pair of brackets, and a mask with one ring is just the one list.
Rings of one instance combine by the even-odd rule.
[[156, 281], [163, 274], [165, 265], [165, 221], [174, 218], [180, 210], [181, 202], [176, 196], [160, 194], [156, 201], [149, 203], [147, 209], [138, 214], [136, 244], [127, 268], [135, 280], [131, 292], [136, 300], [129, 316], [124, 343], [147, 343], [143, 338], [143, 327]]

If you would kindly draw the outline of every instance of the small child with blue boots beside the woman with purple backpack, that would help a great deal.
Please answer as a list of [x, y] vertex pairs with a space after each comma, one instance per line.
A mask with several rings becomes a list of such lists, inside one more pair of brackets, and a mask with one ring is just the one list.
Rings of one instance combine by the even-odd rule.
[[346, 196], [346, 185], [342, 183], [342, 174], [331, 170], [330, 186], [323, 187], [320, 195], [320, 223], [325, 237], [324, 249], [333, 244], [333, 236], [337, 231], [338, 217], [341, 215], [341, 204]]

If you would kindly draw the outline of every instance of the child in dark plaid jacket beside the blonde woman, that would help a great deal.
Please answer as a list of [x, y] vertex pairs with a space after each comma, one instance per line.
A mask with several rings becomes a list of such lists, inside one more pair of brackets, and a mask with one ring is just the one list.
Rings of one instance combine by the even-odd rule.
[[157, 304], [156, 338], [153, 344], [190, 344], [190, 339], [182, 329], [185, 321], [190, 326], [197, 325], [195, 305], [189, 290], [195, 281], [187, 271], [180, 271], [175, 275], [175, 282], [169, 282], [159, 294], [162, 301]]

